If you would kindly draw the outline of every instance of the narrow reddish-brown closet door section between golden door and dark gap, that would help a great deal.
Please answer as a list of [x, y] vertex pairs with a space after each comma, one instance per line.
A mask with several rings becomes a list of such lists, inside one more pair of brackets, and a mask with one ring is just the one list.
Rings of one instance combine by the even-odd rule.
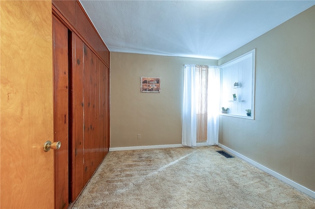
[[69, 206], [68, 36], [68, 28], [53, 15], [54, 138], [61, 141], [61, 148], [54, 151], [56, 209]]

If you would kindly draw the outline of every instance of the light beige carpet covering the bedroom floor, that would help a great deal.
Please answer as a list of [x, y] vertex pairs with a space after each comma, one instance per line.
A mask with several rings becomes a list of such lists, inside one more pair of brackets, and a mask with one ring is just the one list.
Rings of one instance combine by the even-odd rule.
[[73, 209], [315, 209], [315, 199], [216, 150], [110, 152]]

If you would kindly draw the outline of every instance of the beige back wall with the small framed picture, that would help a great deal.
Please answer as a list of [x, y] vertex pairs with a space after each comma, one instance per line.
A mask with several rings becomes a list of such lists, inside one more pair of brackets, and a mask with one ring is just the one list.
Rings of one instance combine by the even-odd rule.
[[[110, 62], [110, 147], [181, 144], [184, 64], [218, 61], [111, 52]], [[160, 77], [161, 93], [140, 93], [141, 76]]]

